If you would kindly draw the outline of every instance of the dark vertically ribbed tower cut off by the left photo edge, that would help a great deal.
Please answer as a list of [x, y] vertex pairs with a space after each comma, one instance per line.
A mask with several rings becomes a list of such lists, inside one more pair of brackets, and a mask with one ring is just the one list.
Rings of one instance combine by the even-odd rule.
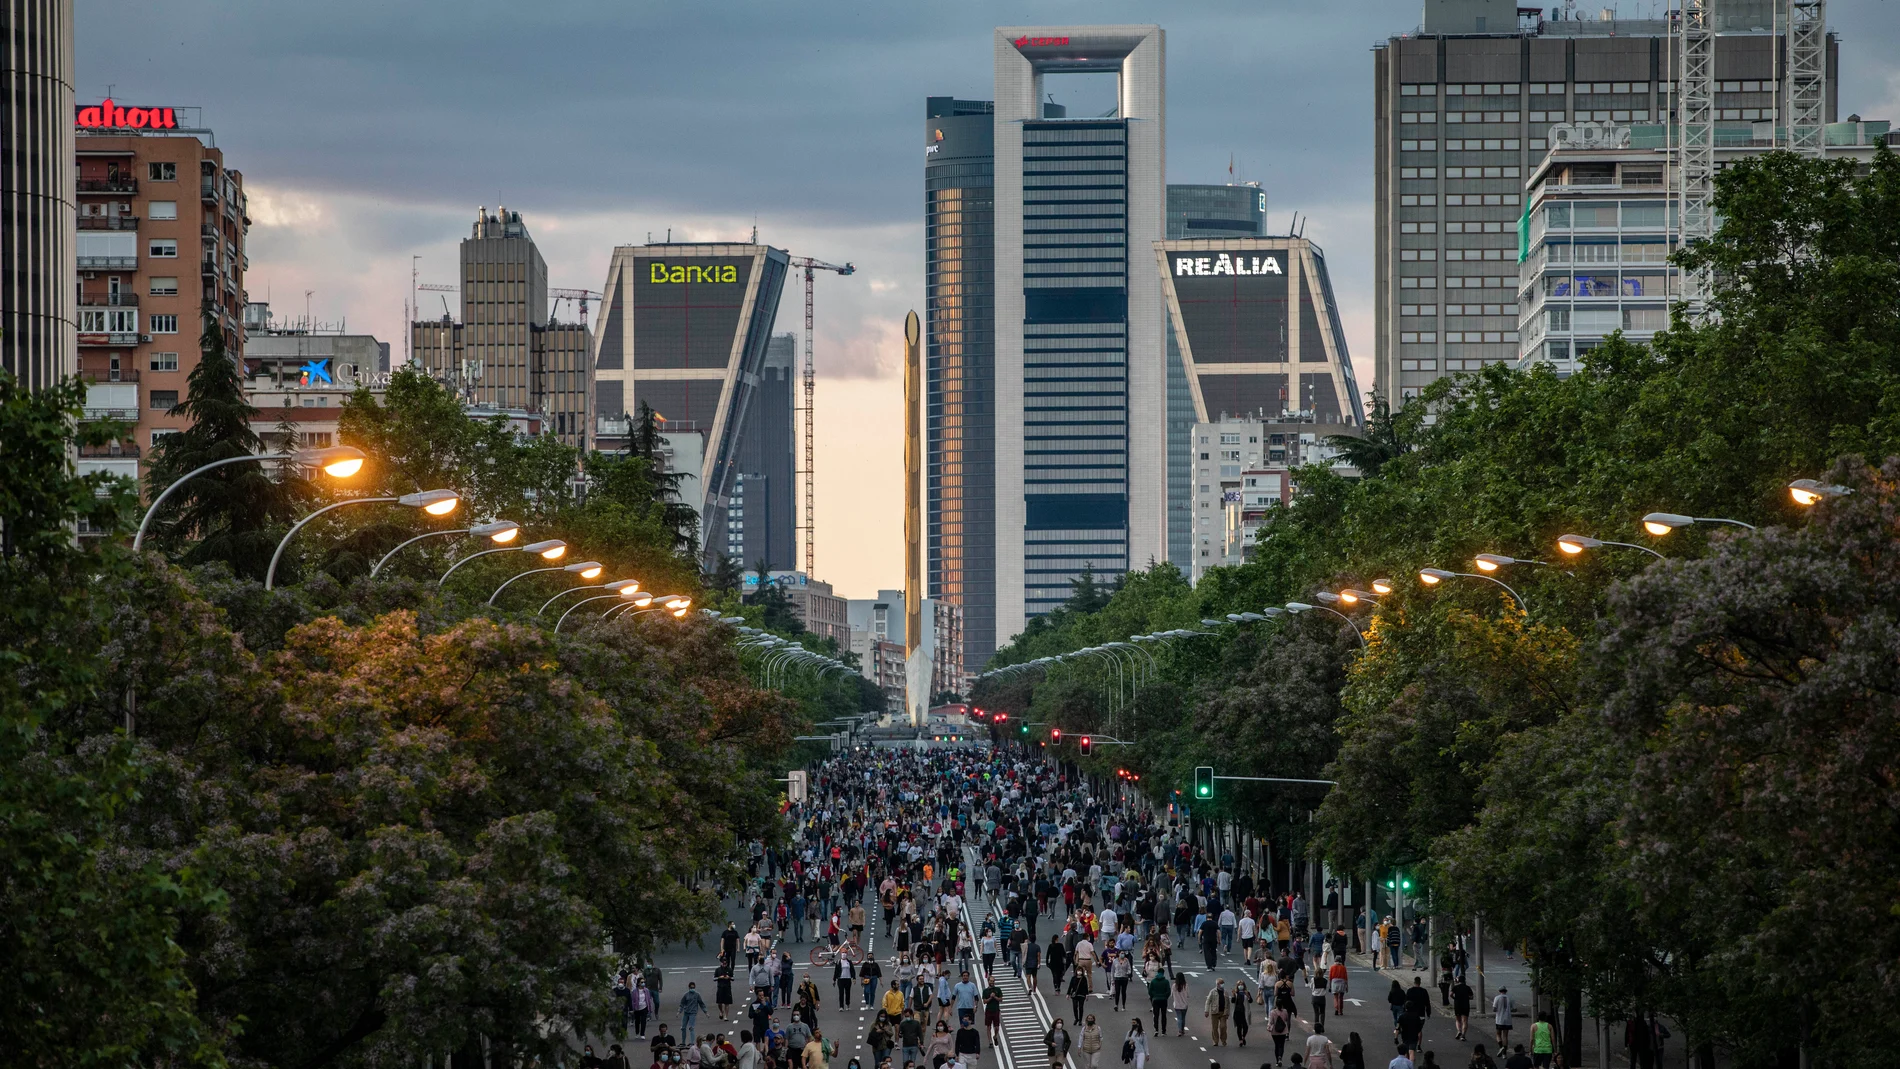
[[44, 389], [78, 370], [72, 0], [0, 11], [0, 368]]

